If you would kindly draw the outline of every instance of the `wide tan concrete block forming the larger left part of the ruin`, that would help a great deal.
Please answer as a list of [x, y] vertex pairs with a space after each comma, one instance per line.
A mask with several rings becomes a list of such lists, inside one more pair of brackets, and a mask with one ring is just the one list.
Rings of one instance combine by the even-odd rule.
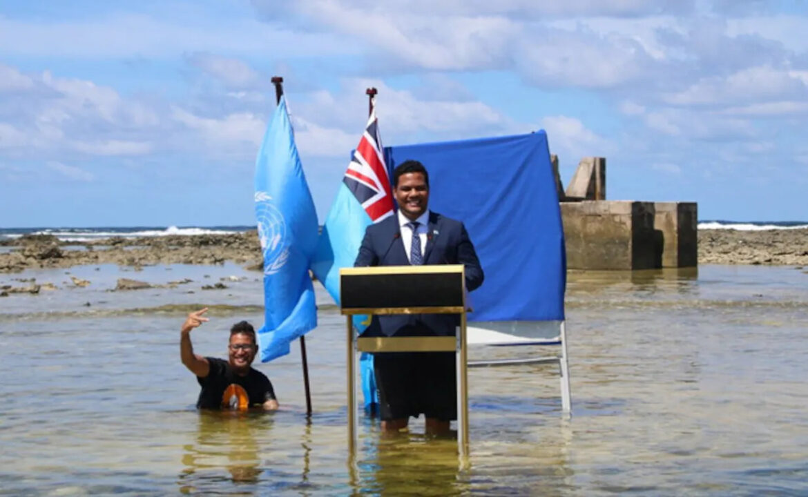
[[561, 210], [570, 269], [659, 267], [652, 202], [565, 202]]

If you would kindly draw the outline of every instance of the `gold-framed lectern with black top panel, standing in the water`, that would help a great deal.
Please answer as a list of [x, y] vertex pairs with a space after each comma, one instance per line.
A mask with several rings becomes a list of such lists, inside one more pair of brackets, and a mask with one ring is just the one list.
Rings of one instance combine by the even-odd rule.
[[[340, 311], [347, 316], [348, 449], [356, 453], [356, 356], [360, 352], [455, 352], [457, 357], [457, 450], [469, 455], [469, 388], [466, 364], [465, 272], [462, 264], [343, 267]], [[456, 336], [357, 338], [356, 314], [459, 314]]]

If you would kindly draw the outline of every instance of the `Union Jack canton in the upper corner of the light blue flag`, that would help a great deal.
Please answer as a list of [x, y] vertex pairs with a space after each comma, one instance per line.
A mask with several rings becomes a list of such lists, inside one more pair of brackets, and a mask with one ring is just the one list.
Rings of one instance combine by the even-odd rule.
[[393, 193], [390, 191], [376, 108], [375, 105], [372, 107], [368, 126], [354, 150], [343, 183], [368, 213], [371, 221], [376, 223], [393, 214]]

